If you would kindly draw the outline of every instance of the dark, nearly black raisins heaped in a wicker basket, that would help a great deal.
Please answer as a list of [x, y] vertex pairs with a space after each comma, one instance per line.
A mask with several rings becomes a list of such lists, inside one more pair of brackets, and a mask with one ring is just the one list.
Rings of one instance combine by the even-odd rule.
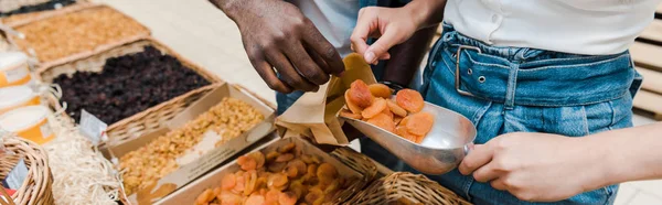
[[152, 46], [108, 58], [100, 73], [61, 75], [53, 83], [62, 87], [72, 118], [78, 121], [85, 109], [108, 125], [210, 84]]

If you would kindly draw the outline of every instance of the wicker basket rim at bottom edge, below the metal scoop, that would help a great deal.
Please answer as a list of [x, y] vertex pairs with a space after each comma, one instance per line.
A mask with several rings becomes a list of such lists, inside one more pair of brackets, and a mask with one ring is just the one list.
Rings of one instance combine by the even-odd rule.
[[396, 202], [401, 199], [407, 199], [415, 204], [471, 204], [437, 182], [408, 172], [396, 172], [373, 182], [345, 204], [397, 204]]

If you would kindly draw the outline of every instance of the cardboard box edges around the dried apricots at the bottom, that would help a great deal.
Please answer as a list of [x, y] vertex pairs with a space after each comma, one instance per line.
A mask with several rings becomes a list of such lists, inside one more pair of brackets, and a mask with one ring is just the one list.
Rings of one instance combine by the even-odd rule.
[[[295, 142], [297, 147], [301, 148], [305, 154], [313, 154], [322, 158], [324, 162], [333, 164], [335, 169], [338, 169], [338, 173], [340, 173], [344, 177], [356, 177], [363, 179], [363, 175], [351, 168], [346, 166], [338, 159], [329, 155], [327, 152], [320, 150], [319, 148], [312, 145], [309, 141], [305, 140], [300, 137], [291, 137], [284, 139], [276, 139], [270, 141], [269, 143], [254, 150], [261, 151], [263, 153], [268, 153], [269, 151], [276, 150], [278, 147], [288, 144], [290, 142]], [[221, 186], [221, 181], [225, 174], [235, 173], [239, 170], [239, 165], [237, 165], [236, 160], [231, 163], [227, 163], [223, 168], [214, 170], [212, 173], [197, 179], [196, 181], [190, 183], [189, 185], [178, 190], [177, 192], [170, 194], [162, 201], [158, 202], [158, 205], [182, 205], [182, 204], [194, 204], [197, 196], [203, 193], [207, 188], [215, 188]], [[344, 192], [341, 193], [339, 197], [340, 201], [344, 202], [349, 197], [351, 197], [354, 193], [357, 193], [363, 187], [363, 182], [356, 182], [355, 185], [350, 186]], [[340, 203], [340, 202], [339, 202]]]

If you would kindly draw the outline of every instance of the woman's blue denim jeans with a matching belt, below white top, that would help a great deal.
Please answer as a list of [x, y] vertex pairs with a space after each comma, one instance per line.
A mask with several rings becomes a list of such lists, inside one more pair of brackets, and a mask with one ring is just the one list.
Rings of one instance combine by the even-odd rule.
[[[457, 56], [461, 45], [470, 47], [462, 47]], [[472, 97], [456, 90], [456, 75], [460, 75], [460, 90]], [[631, 127], [632, 97], [641, 77], [629, 52], [588, 56], [491, 46], [446, 24], [430, 52], [424, 80], [426, 100], [472, 120], [478, 129], [474, 142], [485, 143], [508, 132], [583, 137]], [[474, 204], [535, 204], [457, 170], [429, 177]], [[612, 204], [617, 191], [618, 185], [611, 185], [554, 204]]]

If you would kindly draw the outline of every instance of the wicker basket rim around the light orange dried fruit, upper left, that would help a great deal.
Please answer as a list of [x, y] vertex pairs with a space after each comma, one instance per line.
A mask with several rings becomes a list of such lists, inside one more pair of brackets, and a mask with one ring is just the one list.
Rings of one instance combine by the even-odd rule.
[[[86, 10], [99, 9], [99, 8], [110, 8], [110, 7], [105, 6], [105, 4], [96, 4], [96, 3], [76, 3], [75, 6], [66, 7], [66, 8], [60, 9], [60, 10], [54, 10], [54, 11], [50, 11], [50, 12], [45, 12], [45, 13], [44, 12], [38, 12], [35, 14], [35, 17], [33, 17], [33, 18], [21, 19], [20, 21], [4, 22], [4, 24], [8, 25], [8, 26], [13, 28], [14, 30], [20, 30], [22, 26], [28, 26], [31, 23], [38, 23], [40, 21], [47, 20], [47, 19], [51, 19], [51, 18], [57, 18], [60, 15], [65, 15], [65, 14], [74, 13], [74, 12], [82, 12], [82, 11], [86, 11]], [[124, 14], [124, 13], [121, 13], [121, 12], [115, 10], [115, 9], [113, 9], [113, 10], [115, 12], [117, 12], [117, 13], [120, 13], [121, 15], [124, 15], [127, 19], [136, 21], [135, 19], [130, 18], [129, 15], [126, 15], [126, 14]], [[140, 23], [137, 23], [137, 24], [140, 24]], [[138, 40], [141, 40], [141, 39], [149, 37], [149, 35], [151, 33], [150, 30], [147, 29], [142, 24], [140, 24], [140, 28], [141, 28], [141, 29], [139, 29], [140, 31], [138, 31], [135, 35], [127, 36], [127, 37], [124, 37], [124, 39], [117, 39], [117, 40], [115, 40], [113, 42], [108, 42], [108, 43], [105, 43], [105, 44], [96, 45], [94, 48], [92, 48], [89, 51], [82, 51], [82, 52], [74, 53], [74, 54], [67, 55], [65, 57], [55, 58], [55, 60], [52, 60], [52, 61], [41, 61], [40, 60], [40, 62], [38, 64], [38, 67], [39, 68], [52, 67], [52, 66], [65, 64], [65, 63], [68, 63], [68, 62], [73, 62], [73, 61], [76, 61], [76, 60], [79, 60], [79, 58], [86, 58], [86, 57], [93, 56], [95, 54], [106, 52], [106, 51], [108, 51], [108, 50], [110, 50], [113, 47], [117, 47], [117, 46], [124, 45], [126, 43], [130, 43], [130, 42], [135, 42], [135, 41], [138, 41]], [[23, 34], [30, 35], [30, 33], [23, 33]], [[17, 42], [17, 45], [21, 45], [21, 41], [22, 40], [15, 39], [13, 36], [9, 36], [9, 37], [10, 37], [10, 40]], [[28, 47], [20, 47], [21, 50], [23, 50], [23, 51], [25, 51], [25, 52], [28, 52], [28, 53], [30, 53], [32, 55], [35, 55], [33, 53], [33, 50], [30, 48], [29, 45], [22, 45], [22, 46], [28, 46]]]

